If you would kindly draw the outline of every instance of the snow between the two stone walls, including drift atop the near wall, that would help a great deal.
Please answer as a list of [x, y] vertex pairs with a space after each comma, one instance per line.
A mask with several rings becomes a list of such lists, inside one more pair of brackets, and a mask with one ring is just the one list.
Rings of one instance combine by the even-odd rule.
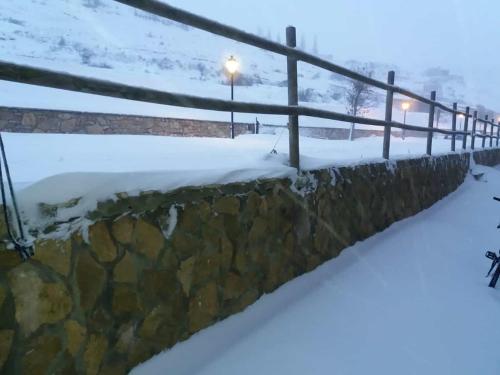
[[[234, 140], [4, 133], [4, 142], [19, 205], [34, 228], [85, 216], [98, 202], [116, 199], [118, 193], [137, 196], [185, 186], [296, 179], [295, 169], [288, 166], [288, 132], [284, 129]], [[425, 138], [403, 141], [394, 137], [391, 158], [419, 157], [425, 147]], [[273, 148], [277, 153], [271, 153]], [[449, 149], [449, 140], [434, 139], [434, 154]], [[306, 171], [383, 161], [381, 137], [353, 142], [301, 137], [300, 150]], [[388, 163], [387, 168], [394, 165]], [[54, 218], [43, 217], [38, 209], [39, 203], [57, 205], [71, 200], [78, 202], [58, 209]]]

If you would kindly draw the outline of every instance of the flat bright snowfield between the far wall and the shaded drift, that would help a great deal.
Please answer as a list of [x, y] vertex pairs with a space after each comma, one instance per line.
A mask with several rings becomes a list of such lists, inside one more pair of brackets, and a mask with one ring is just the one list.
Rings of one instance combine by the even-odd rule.
[[[70, 135], [4, 133], [12, 177], [18, 188], [64, 173], [164, 173], [284, 168], [288, 132], [244, 135], [231, 139], [137, 135]], [[458, 144], [458, 143], [457, 143]], [[276, 148], [277, 155], [270, 152]], [[425, 138], [391, 139], [391, 157], [420, 156]], [[458, 147], [457, 147], [458, 148]], [[434, 153], [450, 150], [450, 141], [436, 138]], [[350, 141], [300, 138], [304, 169], [380, 159], [382, 138]], [[256, 176], [254, 176], [256, 177]], [[68, 193], [68, 192], [66, 192]]]

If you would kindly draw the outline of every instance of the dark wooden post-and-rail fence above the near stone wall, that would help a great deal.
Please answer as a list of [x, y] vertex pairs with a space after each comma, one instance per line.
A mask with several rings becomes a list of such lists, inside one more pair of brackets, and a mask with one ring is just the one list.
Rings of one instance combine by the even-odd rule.
[[[210, 19], [195, 15], [182, 9], [170, 6], [157, 0], [115, 0], [119, 3], [140, 9], [157, 16], [167, 18], [191, 27], [195, 27], [212, 34], [216, 34], [237, 42], [258, 47], [270, 52], [274, 52], [287, 57], [288, 72], [288, 105], [272, 105], [262, 103], [247, 103], [238, 101], [228, 101], [199, 97], [193, 95], [179, 94], [173, 92], [159, 91], [154, 89], [135, 87], [117, 82], [81, 77], [68, 73], [55, 72], [47, 69], [41, 69], [32, 66], [19, 65], [15, 63], [0, 61], [0, 79], [52, 87], [56, 89], [71, 90], [88, 94], [104, 95], [109, 97], [143, 101], [149, 103], [165, 104], [171, 106], [197, 108], [213, 111], [241, 112], [241, 113], [260, 113], [272, 115], [289, 116], [289, 155], [290, 165], [299, 168], [299, 116], [309, 116], [324, 119], [331, 119], [349, 123], [358, 123], [382, 127], [384, 129], [384, 141], [382, 156], [389, 158], [390, 135], [392, 128], [415, 130], [427, 132], [427, 154], [432, 154], [432, 139], [434, 133], [451, 135], [451, 150], [455, 151], [456, 138], [461, 136], [462, 148], [466, 148], [468, 137], [471, 139], [471, 148], [475, 148], [475, 139], [482, 138], [482, 147], [486, 147], [486, 139], [489, 139], [489, 146], [493, 147], [493, 139], [498, 146], [500, 138], [500, 124], [495, 123], [494, 119], [478, 118], [477, 111], [471, 115], [470, 107], [465, 111], [460, 111], [457, 104], [454, 103], [450, 108], [443, 103], [436, 101], [436, 92], [433, 91], [429, 98], [415, 94], [409, 90], [395, 85], [395, 73], [388, 73], [387, 83], [364, 76], [358, 72], [349, 70], [342, 66], [333, 64], [320, 57], [311, 55], [307, 52], [296, 49], [296, 30], [293, 26], [286, 29], [286, 45], [273, 42], [227, 26]], [[298, 80], [297, 80], [297, 62], [302, 61], [316, 67], [337, 73], [344, 77], [364, 82], [386, 92], [385, 119], [372, 119], [358, 116], [351, 116], [334, 111], [322, 110], [298, 105]], [[414, 100], [429, 105], [429, 121], [427, 127], [415, 126], [411, 124], [402, 124], [392, 120], [393, 97], [394, 94], [400, 94]], [[452, 114], [452, 129], [434, 128], [434, 112], [436, 108]], [[462, 115], [465, 118], [463, 131], [456, 130], [456, 118]], [[469, 119], [472, 118], [472, 130], [468, 129]], [[478, 130], [478, 123], [483, 124], [482, 131]], [[489, 126], [489, 134], [488, 134]], [[496, 128], [496, 133], [494, 132]]]

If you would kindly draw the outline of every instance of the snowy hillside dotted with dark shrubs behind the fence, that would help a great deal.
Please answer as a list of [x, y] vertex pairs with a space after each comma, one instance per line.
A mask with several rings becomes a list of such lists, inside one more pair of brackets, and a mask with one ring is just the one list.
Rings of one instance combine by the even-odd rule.
[[[261, 26], [266, 25], [256, 29]], [[321, 50], [317, 52], [321, 54]], [[286, 103], [284, 57], [163, 20], [112, 0], [2, 0], [0, 55], [8, 61], [217, 98], [229, 95], [222, 65], [230, 55], [235, 55], [242, 66], [237, 99]], [[359, 64], [325, 57], [341, 65]], [[437, 89], [440, 98], [447, 102], [466, 100], [459, 94], [465, 92], [464, 79], [446, 69], [410, 73], [387, 64], [363, 63], [369, 64], [378, 79], [385, 80], [387, 71], [395, 69], [397, 84], [401, 86], [424, 95]], [[345, 79], [306, 64], [299, 64], [299, 77], [302, 102], [345, 112]], [[0, 82], [0, 105], [227, 118], [224, 113], [130, 103], [6, 82]], [[376, 117], [381, 114], [381, 108], [374, 108], [371, 113]], [[238, 115], [237, 120], [253, 118]], [[267, 117], [265, 121], [283, 123], [285, 119]], [[318, 122], [306, 119], [302, 123]]]

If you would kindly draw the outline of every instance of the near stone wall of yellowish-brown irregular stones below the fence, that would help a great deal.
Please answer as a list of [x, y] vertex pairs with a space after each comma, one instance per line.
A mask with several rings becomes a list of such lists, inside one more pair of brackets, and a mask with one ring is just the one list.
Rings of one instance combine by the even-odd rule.
[[28, 262], [0, 251], [0, 370], [125, 374], [431, 206], [463, 182], [468, 156], [101, 202], [88, 232], [40, 239]]

